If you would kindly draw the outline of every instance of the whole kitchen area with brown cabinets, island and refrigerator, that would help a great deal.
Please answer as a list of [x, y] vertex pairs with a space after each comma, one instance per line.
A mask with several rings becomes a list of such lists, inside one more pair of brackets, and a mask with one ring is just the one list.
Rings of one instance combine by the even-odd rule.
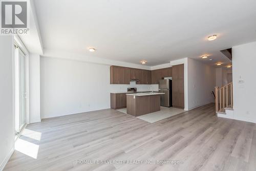
[[[129, 84], [127, 91], [110, 93], [111, 109], [135, 117], [154, 114], [157, 118], [170, 116], [172, 110], [184, 111], [183, 64], [152, 71], [111, 66], [110, 83]], [[148, 86], [149, 90], [146, 87], [137, 90], [142, 85]]]

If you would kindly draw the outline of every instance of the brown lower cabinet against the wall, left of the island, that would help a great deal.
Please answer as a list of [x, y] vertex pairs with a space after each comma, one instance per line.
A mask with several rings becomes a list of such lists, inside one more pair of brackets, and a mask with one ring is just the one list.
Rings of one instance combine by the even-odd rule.
[[110, 93], [111, 109], [126, 108], [126, 93]]

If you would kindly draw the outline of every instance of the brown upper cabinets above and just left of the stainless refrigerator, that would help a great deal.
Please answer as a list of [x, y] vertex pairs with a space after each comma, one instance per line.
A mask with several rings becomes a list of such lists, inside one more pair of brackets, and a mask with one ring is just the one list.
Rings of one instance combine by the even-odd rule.
[[164, 77], [172, 77], [172, 67], [151, 71], [151, 83], [158, 84]]

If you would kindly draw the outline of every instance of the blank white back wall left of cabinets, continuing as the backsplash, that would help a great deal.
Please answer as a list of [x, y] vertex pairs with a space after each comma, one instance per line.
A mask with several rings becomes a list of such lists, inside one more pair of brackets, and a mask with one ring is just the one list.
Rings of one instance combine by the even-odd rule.
[[143, 91], [150, 85], [110, 84], [110, 65], [40, 57], [41, 118], [109, 109], [110, 92], [127, 87]]

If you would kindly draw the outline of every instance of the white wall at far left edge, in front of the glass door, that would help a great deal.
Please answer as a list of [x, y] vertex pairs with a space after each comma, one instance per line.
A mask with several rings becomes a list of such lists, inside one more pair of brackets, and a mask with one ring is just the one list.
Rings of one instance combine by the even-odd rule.
[[13, 37], [0, 36], [0, 170], [14, 147]]

